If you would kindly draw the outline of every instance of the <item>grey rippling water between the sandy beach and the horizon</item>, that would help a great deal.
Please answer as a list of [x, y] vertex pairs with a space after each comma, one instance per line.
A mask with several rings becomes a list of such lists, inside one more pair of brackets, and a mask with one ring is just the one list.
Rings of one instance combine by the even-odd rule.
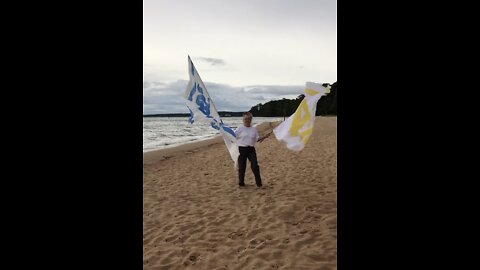
[[[242, 117], [223, 117], [222, 120], [233, 130], [243, 123]], [[275, 121], [283, 121], [283, 117], [254, 117], [252, 125]], [[144, 117], [143, 152], [205, 140], [219, 134], [205, 123], [188, 123], [188, 117]]]

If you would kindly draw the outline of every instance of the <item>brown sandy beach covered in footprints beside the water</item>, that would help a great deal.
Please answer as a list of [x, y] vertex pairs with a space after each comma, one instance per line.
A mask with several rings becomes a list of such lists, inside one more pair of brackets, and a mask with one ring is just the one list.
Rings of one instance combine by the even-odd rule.
[[337, 118], [300, 152], [273, 133], [256, 150], [260, 189], [249, 162], [238, 187], [221, 137], [144, 153], [144, 269], [336, 269]]

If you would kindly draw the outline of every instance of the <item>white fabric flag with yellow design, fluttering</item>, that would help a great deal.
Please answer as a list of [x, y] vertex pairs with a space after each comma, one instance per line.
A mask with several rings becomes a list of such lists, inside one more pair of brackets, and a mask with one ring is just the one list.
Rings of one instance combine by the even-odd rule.
[[301, 151], [312, 135], [315, 122], [317, 102], [321, 96], [330, 91], [314, 82], [306, 82], [305, 97], [294, 114], [273, 129], [278, 141], [284, 142], [288, 149]]

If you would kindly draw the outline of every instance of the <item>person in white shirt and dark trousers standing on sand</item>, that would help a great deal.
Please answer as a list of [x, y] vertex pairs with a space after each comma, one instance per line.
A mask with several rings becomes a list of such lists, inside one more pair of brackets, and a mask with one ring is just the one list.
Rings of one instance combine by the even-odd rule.
[[255, 175], [255, 183], [257, 187], [262, 186], [262, 178], [260, 177], [260, 167], [257, 162], [257, 153], [255, 152], [255, 143], [263, 141], [267, 136], [259, 139], [258, 131], [252, 127], [253, 115], [250, 112], [243, 113], [243, 126], [239, 126], [235, 130], [237, 137], [238, 150], [240, 156], [238, 157], [238, 185], [245, 186], [245, 169], [247, 168], [247, 158], [250, 160], [253, 174]]

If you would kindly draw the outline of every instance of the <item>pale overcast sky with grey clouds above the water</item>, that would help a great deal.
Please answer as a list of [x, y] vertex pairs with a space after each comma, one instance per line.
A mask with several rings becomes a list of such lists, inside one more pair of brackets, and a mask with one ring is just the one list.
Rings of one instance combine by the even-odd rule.
[[337, 81], [335, 0], [144, 0], [144, 114], [187, 113], [188, 55], [219, 111]]

